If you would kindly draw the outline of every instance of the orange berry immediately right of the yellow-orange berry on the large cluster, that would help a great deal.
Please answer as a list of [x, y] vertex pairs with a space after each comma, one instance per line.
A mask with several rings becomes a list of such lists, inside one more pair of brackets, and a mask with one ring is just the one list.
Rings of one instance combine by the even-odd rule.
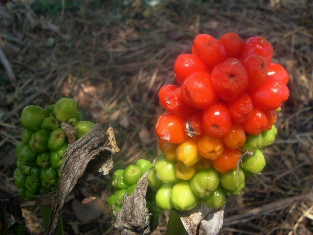
[[222, 139], [205, 134], [198, 140], [198, 149], [203, 158], [215, 160], [223, 153], [224, 144]]

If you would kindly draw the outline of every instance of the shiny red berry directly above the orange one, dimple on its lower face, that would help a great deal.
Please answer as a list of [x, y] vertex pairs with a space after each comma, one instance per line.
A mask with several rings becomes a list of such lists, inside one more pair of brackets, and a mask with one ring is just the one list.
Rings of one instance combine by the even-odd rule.
[[231, 131], [230, 113], [223, 103], [216, 103], [203, 112], [202, 128], [204, 133], [222, 138]]

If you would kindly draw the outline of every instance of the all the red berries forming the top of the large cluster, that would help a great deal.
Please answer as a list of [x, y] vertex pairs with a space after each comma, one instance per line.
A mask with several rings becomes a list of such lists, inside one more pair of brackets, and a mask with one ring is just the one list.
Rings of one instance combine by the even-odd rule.
[[200, 34], [191, 50], [175, 62], [179, 85], [165, 85], [158, 93], [166, 110], [155, 126], [159, 140], [180, 144], [203, 134], [225, 138], [234, 124], [250, 135], [271, 129], [275, 110], [289, 96], [289, 75], [271, 63], [273, 48], [264, 37], [243, 42], [236, 33], [220, 40]]

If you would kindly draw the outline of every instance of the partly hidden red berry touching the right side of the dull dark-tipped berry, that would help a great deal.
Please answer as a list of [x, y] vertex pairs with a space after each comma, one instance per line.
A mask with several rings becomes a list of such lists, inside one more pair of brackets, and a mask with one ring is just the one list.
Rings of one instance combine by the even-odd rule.
[[246, 92], [252, 92], [262, 86], [268, 76], [268, 63], [264, 57], [252, 54], [243, 61], [248, 75]]

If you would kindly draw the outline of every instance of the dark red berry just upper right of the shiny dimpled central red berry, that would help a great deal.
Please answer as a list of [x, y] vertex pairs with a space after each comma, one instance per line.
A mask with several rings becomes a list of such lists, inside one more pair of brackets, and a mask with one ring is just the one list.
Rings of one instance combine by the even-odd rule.
[[227, 108], [232, 121], [236, 124], [240, 124], [250, 117], [253, 104], [250, 96], [244, 92], [240, 94], [236, 100], [228, 102]]

